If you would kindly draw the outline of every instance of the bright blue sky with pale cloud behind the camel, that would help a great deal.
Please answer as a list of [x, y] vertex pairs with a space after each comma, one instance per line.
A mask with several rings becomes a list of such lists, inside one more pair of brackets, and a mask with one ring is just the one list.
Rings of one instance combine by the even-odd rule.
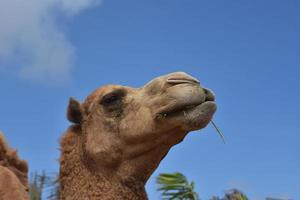
[[[55, 0], [0, 3], [0, 129], [31, 171], [58, 170], [70, 96], [140, 87], [185, 71], [213, 89], [215, 122], [175, 146], [160, 172], [184, 173], [202, 199], [300, 196], [300, 2]], [[43, 1], [42, 1], [43, 2]]]

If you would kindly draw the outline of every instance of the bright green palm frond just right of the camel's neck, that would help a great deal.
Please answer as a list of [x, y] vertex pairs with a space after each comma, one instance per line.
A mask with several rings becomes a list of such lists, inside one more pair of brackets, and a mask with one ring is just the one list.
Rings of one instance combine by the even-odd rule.
[[186, 177], [179, 173], [163, 173], [157, 177], [158, 191], [164, 200], [199, 200], [194, 191], [194, 182], [189, 183]]

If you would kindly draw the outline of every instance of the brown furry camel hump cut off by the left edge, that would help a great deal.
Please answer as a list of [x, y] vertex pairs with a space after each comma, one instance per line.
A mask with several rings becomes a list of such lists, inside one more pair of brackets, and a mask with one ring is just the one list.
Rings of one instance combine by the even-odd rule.
[[21, 160], [0, 132], [0, 199], [29, 200], [28, 165]]

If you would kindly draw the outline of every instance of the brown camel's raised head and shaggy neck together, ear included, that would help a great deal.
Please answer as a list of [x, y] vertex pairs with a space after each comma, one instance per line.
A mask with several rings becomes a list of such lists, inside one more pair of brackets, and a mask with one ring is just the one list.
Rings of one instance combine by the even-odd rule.
[[61, 138], [61, 200], [146, 200], [145, 184], [170, 148], [204, 128], [213, 93], [175, 72], [141, 88], [106, 85], [69, 101]]

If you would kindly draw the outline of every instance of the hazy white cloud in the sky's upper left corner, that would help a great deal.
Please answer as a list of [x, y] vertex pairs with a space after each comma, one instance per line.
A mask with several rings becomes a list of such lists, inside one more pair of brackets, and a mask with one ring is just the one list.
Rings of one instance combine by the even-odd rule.
[[[0, 68], [13, 68], [25, 79], [66, 81], [74, 47], [56, 17], [74, 17], [101, 0], [1, 0]], [[4, 66], [5, 63], [5, 66]]]

